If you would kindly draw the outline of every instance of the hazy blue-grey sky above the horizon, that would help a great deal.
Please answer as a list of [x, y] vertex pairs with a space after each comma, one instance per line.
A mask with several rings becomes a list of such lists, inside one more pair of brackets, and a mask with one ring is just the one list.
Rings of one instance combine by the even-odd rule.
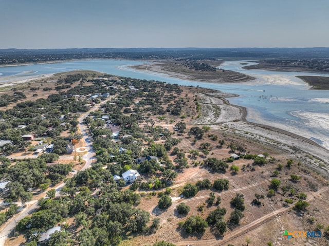
[[0, 49], [328, 47], [328, 0], [0, 0]]

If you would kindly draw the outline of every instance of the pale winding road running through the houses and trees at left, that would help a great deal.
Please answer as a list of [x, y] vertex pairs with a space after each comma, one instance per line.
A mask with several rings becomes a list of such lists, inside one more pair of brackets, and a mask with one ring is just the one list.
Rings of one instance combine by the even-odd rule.
[[[101, 104], [104, 104], [104, 103], [106, 103], [106, 101], [102, 102]], [[80, 116], [80, 118], [78, 119], [80, 132], [83, 136], [84, 142], [86, 144], [85, 148], [87, 150], [87, 154], [85, 154], [82, 157], [82, 159], [85, 161], [85, 165], [81, 168], [82, 171], [85, 170], [86, 168], [90, 167], [92, 165], [93, 161], [96, 160], [95, 150], [94, 150], [93, 142], [92, 142], [93, 137], [90, 136], [89, 129], [83, 124], [83, 120], [89, 115], [90, 112], [97, 110], [100, 107], [100, 105], [93, 107], [86, 113], [83, 113]], [[38, 157], [38, 156], [35, 155], [35, 158], [36, 157]], [[28, 157], [28, 158], [30, 158], [30, 157]], [[54, 187], [54, 189], [57, 191], [57, 195], [59, 194], [59, 191], [61, 190], [61, 188], [64, 185], [65, 185], [65, 183], [62, 182], [61, 184]], [[45, 196], [46, 195], [44, 195], [44, 197]], [[26, 203], [26, 207], [24, 207], [24, 209], [20, 213], [14, 215], [4, 225], [0, 226], [0, 246], [5, 245], [5, 242], [6, 242], [6, 239], [8, 236], [10, 236], [10, 235], [13, 236], [14, 228], [15, 228], [16, 224], [21, 219], [26, 217], [27, 215], [33, 213], [33, 211], [36, 209], [38, 209], [38, 200], [30, 201], [30, 202]]]

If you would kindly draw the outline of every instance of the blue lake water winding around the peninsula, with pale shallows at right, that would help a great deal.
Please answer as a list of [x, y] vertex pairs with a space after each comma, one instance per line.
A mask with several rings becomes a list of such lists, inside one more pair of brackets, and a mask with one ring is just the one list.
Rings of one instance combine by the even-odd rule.
[[329, 148], [329, 91], [308, 90], [309, 86], [295, 77], [296, 75], [329, 76], [329, 74], [245, 70], [242, 68], [245, 65], [241, 65], [243, 62], [246, 61], [225, 62], [220, 68], [251, 75], [256, 78], [255, 80], [234, 84], [203, 83], [129, 68], [131, 65], [143, 63], [139, 61], [81, 60], [0, 67], [0, 81], [10, 82], [16, 80], [17, 76], [27, 79], [42, 74], [87, 69], [123, 77], [223, 90], [240, 95], [230, 98], [229, 101], [247, 108], [248, 121], [282, 128]]

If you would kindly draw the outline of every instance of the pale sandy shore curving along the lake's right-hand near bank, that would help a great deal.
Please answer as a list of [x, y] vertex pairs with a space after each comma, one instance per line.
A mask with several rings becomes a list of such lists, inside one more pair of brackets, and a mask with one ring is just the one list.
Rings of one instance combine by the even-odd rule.
[[[319, 174], [329, 175], [329, 150], [310, 139], [282, 129], [248, 122], [244, 107], [231, 105], [227, 99], [236, 97], [226, 92], [199, 93], [200, 116], [192, 124], [208, 125], [227, 133], [281, 149]], [[322, 163], [322, 164], [320, 164]]]

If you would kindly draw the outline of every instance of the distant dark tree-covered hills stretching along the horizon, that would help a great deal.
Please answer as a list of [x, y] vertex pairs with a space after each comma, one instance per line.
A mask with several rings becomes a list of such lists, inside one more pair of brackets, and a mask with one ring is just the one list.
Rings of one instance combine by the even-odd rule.
[[0, 65], [74, 59], [329, 59], [329, 48], [0, 49]]

